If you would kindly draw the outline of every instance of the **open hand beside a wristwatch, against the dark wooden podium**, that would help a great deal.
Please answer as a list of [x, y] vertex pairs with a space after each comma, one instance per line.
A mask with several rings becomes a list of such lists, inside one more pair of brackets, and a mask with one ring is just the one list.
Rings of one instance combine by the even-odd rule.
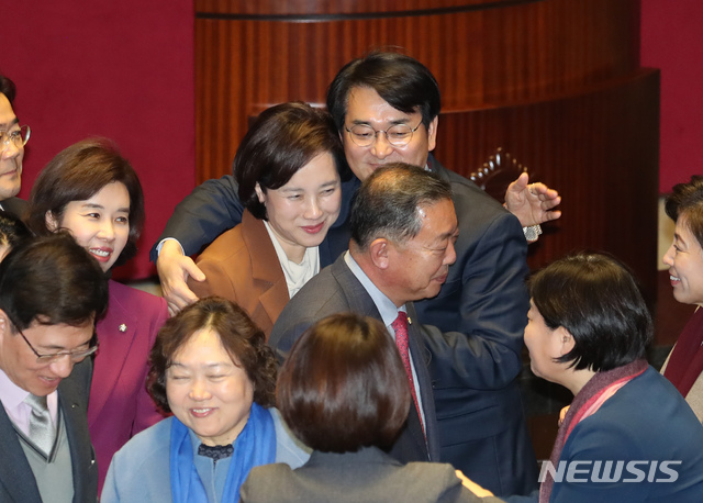
[[539, 225], [561, 216], [553, 210], [561, 202], [559, 193], [544, 183], [529, 185], [529, 177], [523, 172], [505, 191], [505, 208], [517, 216], [523, 227]]

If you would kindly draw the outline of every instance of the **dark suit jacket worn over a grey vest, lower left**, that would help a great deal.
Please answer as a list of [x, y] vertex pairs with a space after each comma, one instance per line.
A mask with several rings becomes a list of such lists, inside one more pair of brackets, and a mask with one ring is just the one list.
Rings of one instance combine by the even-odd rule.
[[[71, 375], [58, 385], [58, 406], [68, 435], [74, 474], [74, 502], [94, 503], [98, 498], [98, 465], [88, 434], [88, 392], [92, 361], [76, 365]], [[12, 421], [0, 406], [0, 501], [3, 503], [42, 503], [24, 450]]]

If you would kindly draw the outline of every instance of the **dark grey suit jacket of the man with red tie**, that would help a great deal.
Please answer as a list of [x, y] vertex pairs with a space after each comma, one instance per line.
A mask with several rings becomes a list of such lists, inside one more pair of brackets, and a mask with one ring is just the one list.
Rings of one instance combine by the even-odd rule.
[[[406, 304], [406, 309], [408, 315], [415, 318], [412, 303]], [[274, 325], [269, 344], [276, 348], [282, 359], [310, 325], [331, 314], [346, 311], [381, 320], [371, 297], [349, 270], [344, 256], [341, 256], [332, 266], [324, 268], [308, 281], [290, 300]], [[411, 324], [408, 332], [410, 353], [422, 396], [427, 441], [425, 443], [415, 407], [410, 407], [406, 427], [403, 428], [390, 454], [401, 462], [437, 461], [439, 444], [432, 384], [427, 372], [428, 355], [420, 344], [419, 324]]]

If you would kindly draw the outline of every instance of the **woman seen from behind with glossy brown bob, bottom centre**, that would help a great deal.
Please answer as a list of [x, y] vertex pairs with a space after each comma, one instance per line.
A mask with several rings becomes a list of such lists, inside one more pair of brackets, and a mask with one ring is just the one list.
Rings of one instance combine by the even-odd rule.
[[276, 402], [313, 452], [294, 470], [280, 463], [252, 470], [243, 502], [481, 501], [449, 465], [401, 465], [383, 452], [404, 425], [411, 394], [398, 349], [377, 320], [343, 313], [314, 324], [281, 368]]

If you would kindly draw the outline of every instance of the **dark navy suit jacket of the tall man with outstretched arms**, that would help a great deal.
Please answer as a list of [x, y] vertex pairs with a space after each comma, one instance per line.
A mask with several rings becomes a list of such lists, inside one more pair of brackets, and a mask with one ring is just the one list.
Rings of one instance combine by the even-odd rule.
[[[459, 221], [457, 261], [446, 283], [436, 298], [416, 303], [419, 320], [439, 329], [422, 335], [432, 353], [440, 459], [495, 494], [526, 494], [537, 487], [516, 380], [528, 311], [527, 243], [517, 219], [498, 201], [432, 155], [428, 166], [451, 185]], [[320, 246], [322, 267], [348, 247], [349, 201], [359, 183], [353, 178], [342, 185], [339, 219]], [[209, 180], [176, 208], [163, 237], [196, 253], [236, 225], [241, 209], [233, 177]], [[455, 333], [445, 340], [437, 338], [440, 332]]]

